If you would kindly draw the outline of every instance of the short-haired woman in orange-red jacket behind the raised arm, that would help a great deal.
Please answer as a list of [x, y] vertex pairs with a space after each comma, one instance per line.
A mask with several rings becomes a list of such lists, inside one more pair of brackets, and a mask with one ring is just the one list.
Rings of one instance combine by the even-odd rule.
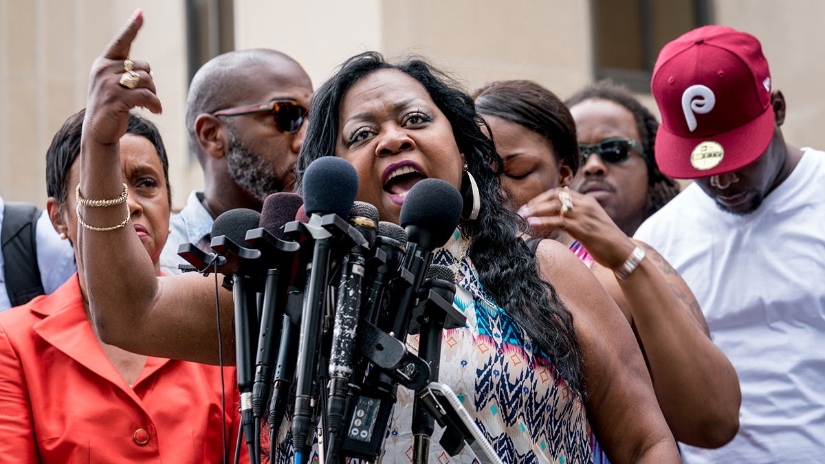
[[[134, 228], [158, 269], [169, 229], [163, 140], [130, 114], [120, 139], [124, 190], [87, 199], [80, 180], [84, 111], [46, 154], [48, 210], [73, 243], [78, 225], [106, 234]], [[113, 227], [89, 224], [77, 204], [124, 210]], [[131, 220], [129, 220], [131, 219]], [[76, 255], [78, 248], [75, 248]], [[235, 369], [127, 352], [102, 343], [89, 313], [82, 260], [49, 296], [0, 313], [0, 462], [224, 462], [238, 430]], [[128, 286], [128, 281], [111, 282]]]

